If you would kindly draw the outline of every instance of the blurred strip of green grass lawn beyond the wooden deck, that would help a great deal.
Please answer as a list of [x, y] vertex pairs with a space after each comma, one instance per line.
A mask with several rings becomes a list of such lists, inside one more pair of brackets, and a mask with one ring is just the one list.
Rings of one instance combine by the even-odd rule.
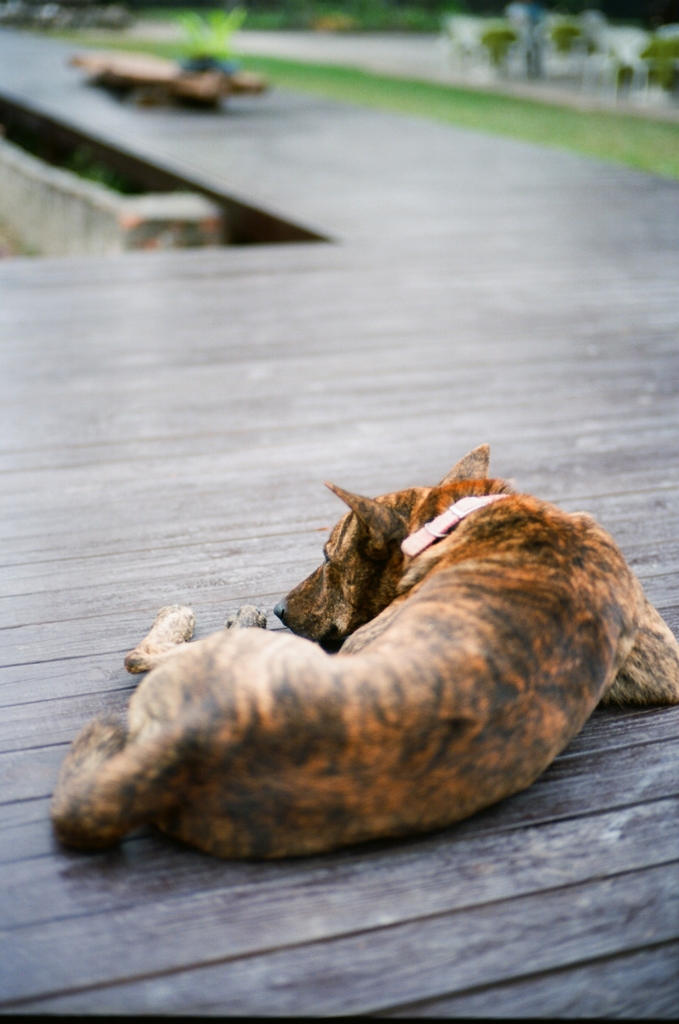
[[[70, 38], [76, 41], [76, 37]], [[79, 36], [77, 41], [93, 45], [95, 39]], [[97, 43], [112, 45], [100, 38]], [[182, 54], [177, 44], [135, 41], [115, 45], [162, 56]], [[350, 68], [272, 57], [240, 59], [244, 68], [263, 73], [273, 85], [285, 89], [507, 135], [679, 179], [679, 124], [617, 113], [575, 111]]]

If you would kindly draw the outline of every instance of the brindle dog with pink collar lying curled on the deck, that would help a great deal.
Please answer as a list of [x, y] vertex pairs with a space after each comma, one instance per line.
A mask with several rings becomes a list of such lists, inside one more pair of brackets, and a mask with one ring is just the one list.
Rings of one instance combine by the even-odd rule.
[[[351, 511], [277, 609], [298, 637], [245, 629], [265, 625], [249, 606], [187, 645], [190, 609], [163, 608], [126, 659], [153, 670], [127, 726], [92, 722], [66, 759], [58, 837], [104, 847], [155, 822], [221, 857], [283, 857], [406, 836], [529, 785], [601, 700], [679, 702], [679, 647], [610, 537], [486, 479], [487, 459], [374, 501], [333, 487]], [[404, 555], [492, 494], [509, 497]]]

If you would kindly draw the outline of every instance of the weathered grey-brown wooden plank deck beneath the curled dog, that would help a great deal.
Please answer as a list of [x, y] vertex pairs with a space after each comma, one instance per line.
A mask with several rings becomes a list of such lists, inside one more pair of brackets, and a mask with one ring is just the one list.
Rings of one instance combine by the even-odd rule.
[[[0, 264], [0, 1006], [676, 1017], [679, 709], [595, 713], [529, 790], [408, 842], [232, 863], [151, 828], [53, 840], [67, 744], [124, 709], [157, 608], [198, 636], [270, 609], [341, 514], [324, 479], [430, 483], [490, 441], [498, 475], [593, 512], [679, 629], [679, 187], [286, 102], [264, 111], [299, 181], [269, 160], [257, 195], [342, 244]], [[302, 108], [336, 117], [315, 147]], [[169, 115], [143, 117], [169, 160]], [[239, 116], [249, 166], [267, 118]], [[234, 166], [209, 173], [245, 189]]]

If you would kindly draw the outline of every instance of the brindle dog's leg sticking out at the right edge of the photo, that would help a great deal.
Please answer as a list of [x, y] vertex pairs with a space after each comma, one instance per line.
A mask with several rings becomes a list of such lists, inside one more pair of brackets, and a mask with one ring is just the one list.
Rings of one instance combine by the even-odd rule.
[[679, 703], [679, 644], [646, 598], [634, 646], [601, 703]]

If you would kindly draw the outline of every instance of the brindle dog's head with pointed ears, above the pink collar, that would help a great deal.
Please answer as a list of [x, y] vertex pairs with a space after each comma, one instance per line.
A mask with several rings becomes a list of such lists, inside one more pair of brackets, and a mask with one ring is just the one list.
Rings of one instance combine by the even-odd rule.
[[[338, 649], [396, 596], [405, 538], [459, 497], [473, 493], [468, 484], [460, 490], [460, 484], [487, 476], [490, 454], [487, 444], [474, 449], [436, 487], [411, 487], [371, 499], [328, 484], [351, 511], [332, 530], [324, 564], [274, 608], [281, 622], [328, 650]], [[483, 493], [483, 485], [476, 489]]]

